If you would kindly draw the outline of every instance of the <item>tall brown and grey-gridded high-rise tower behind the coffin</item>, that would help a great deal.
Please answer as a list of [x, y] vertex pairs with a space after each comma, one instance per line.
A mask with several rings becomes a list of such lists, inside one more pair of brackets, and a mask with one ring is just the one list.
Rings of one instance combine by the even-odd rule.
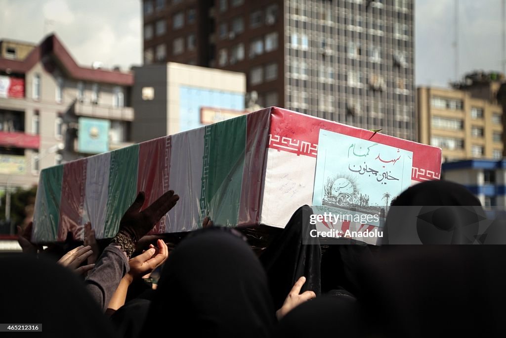
[[246, 73], [277, 105], [417, 140], [412, 0], [143, 0], [144, 63]]

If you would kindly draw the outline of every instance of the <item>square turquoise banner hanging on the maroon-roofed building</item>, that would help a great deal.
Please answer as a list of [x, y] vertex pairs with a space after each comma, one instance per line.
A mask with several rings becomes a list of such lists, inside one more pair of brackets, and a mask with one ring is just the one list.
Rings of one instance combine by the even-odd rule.
[[79, 118], [77, 152], [99, 154], [109, 151], [109, 120]]

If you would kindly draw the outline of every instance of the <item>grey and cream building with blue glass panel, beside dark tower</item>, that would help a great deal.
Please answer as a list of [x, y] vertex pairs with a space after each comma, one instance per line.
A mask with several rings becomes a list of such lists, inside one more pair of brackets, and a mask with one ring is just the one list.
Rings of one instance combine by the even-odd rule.
[[135, 142], [245, 114], [244, 73], [175, 62], [133, 67]]

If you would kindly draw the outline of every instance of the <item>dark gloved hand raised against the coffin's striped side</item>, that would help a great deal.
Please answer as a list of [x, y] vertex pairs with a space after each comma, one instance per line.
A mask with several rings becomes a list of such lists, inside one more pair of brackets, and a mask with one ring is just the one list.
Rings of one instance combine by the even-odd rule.
[[141, 211], [145, 198], [144, 192], [140, 192], [119, 222], [119, 233], [129, 236], [134, 243], [151, 231], [156, 222], [179, 200], [179, 196], [174, 195], [174, 191], [170, 190]]

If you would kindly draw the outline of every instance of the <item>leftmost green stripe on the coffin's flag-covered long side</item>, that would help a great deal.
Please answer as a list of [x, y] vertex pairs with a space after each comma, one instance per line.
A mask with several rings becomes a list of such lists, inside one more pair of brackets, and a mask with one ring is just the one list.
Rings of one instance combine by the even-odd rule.
[[63, 165], [40, 172], [33, 239], [37, 243], [55, 242], [58, 238]]

